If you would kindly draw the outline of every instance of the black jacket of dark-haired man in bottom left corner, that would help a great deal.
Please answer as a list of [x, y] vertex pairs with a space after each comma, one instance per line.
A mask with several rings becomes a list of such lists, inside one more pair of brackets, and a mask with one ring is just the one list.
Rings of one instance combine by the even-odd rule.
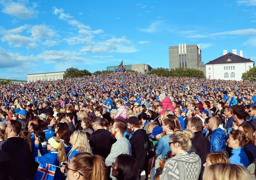
[[32, 153], [28, 142], [21, 137], [10, 137], [0, 144], [0, 150], [6, 152], [15, 169], [15, 180], [26, 180], [31, 171]]

